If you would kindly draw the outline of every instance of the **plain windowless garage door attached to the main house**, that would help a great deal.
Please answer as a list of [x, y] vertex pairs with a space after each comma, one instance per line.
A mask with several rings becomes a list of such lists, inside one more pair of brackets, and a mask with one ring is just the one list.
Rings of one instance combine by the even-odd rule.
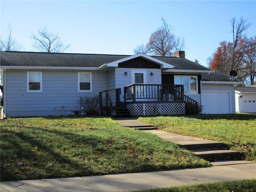
[[203, 114], [228, 114], [230, 113], [230, 92], [202, 92]]

